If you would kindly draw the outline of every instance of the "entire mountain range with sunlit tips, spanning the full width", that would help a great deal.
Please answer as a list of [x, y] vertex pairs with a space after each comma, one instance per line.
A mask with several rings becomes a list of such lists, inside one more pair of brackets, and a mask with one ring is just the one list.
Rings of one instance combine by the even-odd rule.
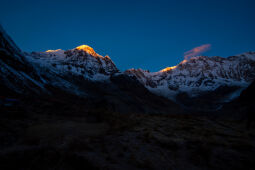
[[167, 112], [177, 109], [177, 104], [215, 110], [255, 79], [254, 52], [228, 58], [193, 57], [159, 72], [120, 72], [109, 56], [87, 45], [66, 51], [22, 52], [2, 27], [0, 55], [2, 94], [54, 95], [58, 89], [105, 100], [118, 111]]

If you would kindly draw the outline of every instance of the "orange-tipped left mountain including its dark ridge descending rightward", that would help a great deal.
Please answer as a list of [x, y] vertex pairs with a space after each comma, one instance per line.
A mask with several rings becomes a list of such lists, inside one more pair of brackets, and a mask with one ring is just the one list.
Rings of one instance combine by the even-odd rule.
[[102, 105], [123, 113], [165, 113], [169, 109], [180, 112], [178, 105], [119, 73], [108, 56], [102, 57], [89, 46], [26, 53], [26, 58], [45, 84], [88, 98], [91, 106], [94, 103], [94, 107]]

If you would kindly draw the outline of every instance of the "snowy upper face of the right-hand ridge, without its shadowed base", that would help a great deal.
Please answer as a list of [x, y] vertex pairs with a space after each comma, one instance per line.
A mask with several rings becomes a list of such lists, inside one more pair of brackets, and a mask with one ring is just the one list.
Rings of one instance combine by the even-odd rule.
[[135, 76], [155, 94], [174, 99], [186, 92], [194, 97], [222, 86], [247, 87], [255, 79], [255, 53], [228, 58], [198, 56], [159, 72], [130, 69], [125, 74]]

